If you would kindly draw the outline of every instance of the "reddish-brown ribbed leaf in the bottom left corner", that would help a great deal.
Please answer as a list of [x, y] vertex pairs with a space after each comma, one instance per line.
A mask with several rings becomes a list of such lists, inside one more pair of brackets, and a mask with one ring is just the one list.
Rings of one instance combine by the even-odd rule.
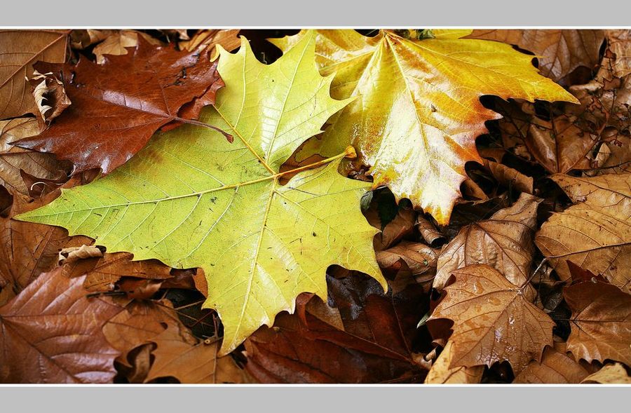
[[0, 308], [2, 383], [109, 383], [118, 352], [101, 328], [121, 311], [87, 299], [83, 278], [43, 273]]

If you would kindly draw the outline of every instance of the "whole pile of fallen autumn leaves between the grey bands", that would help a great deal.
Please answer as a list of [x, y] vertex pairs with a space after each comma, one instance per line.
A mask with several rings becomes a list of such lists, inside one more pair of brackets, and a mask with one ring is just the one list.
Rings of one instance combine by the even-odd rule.
[[630, 31], [238, 33], [0, 31], [1, 382], [629, 382]]

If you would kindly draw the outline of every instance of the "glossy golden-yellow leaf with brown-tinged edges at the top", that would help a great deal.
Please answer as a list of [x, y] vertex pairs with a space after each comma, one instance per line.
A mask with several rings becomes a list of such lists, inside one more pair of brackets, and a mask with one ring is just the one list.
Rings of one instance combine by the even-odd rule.
[[[487, 130], [485, 121], [500, 117], [480, 96], [577, 101], [508, 44], [459, 39], [468, 34], [462, 30], [439, 34], [410, 40], [384, 30], [374, 37], [318, 30], [316, 61], [323, 74], [335, 73], [332, 96], [358, 99], [303, 151], [330, 156], [353, 144], [374, 187], [387, 185], [447, 224], [465, 163], [482, 163], [475, 137]], [[273, 43], [287, 50], [304, 35]]]

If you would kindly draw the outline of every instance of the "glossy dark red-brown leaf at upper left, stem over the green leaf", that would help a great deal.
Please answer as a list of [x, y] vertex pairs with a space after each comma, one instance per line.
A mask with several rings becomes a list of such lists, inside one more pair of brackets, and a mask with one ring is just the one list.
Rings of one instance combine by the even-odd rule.
[[[107, 174], [168, 123], [215, 128], [192, 119], [203, 104], [215, 102], [217, 89], [224, 86], [217, 62], [205, 53], [150, 46], [139, 39], [130, 53], [108, 55], [103, 65], [81, 57], [76, 66], [36, 66], [62, 79], [72, 105], [43, 133], [14, 143], [72, 161], [74, 173], [100, 168]], [[182, 118], [179, 110], [194, 100], [203, 104]]]

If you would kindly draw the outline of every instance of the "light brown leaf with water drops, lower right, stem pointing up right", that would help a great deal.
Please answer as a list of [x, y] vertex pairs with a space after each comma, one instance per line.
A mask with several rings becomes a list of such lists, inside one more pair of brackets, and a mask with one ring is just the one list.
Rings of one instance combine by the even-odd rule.
[[552, 345], [550, 317], [526, 299], [524, 290], [485, 264], [452, 271], [455, 283], [428, 319], [454, 322], [450, 368], [507, 360], [519, 374], [530, 360], [541, 360]]

